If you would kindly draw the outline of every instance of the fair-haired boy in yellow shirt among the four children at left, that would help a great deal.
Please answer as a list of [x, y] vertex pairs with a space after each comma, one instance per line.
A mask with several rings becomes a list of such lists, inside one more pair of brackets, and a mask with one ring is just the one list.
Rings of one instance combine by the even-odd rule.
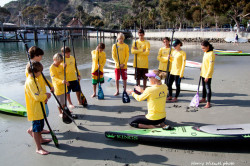
[[[50, 66], [49, 71], [50, 71], [50, 76], [52, 80], [52, 84], [55, 87], [55, 95], [62, 105], [62, 107], [65, 107], [65, 86], [69, 86], [69, 83], [64, 80], [64, 66], [61, 63], [63, 62], [63, 56], [59, 53], [56, 53], [53, 56], [53, 64]], [[68, 89], [66, 88], [66, 93]], [[58, 105], [58, 110], [59, 110], [59, 116], [62, 118], [62, 110], [61, 107]]]

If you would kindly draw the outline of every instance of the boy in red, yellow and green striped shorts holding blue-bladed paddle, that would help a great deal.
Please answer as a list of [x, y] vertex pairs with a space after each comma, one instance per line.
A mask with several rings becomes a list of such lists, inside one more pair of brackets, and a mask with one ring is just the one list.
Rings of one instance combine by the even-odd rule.
[[104, 52], [105, 44], [99, 43], [95, 50], [91, 52], [92, 55], [92, 84], [93, 84], [93, 95], [96, 97], [96, 85], [97, 83], [104, 83], [103, 68], [106, 63], [106, 53]]

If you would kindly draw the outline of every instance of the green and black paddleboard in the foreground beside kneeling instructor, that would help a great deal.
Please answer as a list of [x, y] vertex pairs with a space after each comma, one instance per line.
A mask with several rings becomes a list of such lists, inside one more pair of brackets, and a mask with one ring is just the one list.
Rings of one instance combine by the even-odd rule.
[[138, 143], [154, 142], [242, 142], [250, 141], [250, 124], [179, 126], [172, 130], [137, 129], [106, 131], [105, 137]]

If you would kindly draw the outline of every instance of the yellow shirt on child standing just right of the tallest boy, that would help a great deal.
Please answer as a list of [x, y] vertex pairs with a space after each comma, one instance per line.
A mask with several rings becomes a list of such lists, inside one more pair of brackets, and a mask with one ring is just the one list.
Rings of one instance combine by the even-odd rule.
[[[171, 49], [171, 53], [173, 53], [174, 49]], [[162, 47], [160, 48], [159, 52], [158, 52], [158, 56], [157, 56], [157, 60], [159, 61], [159, 70], [162, 71], [166, 71], [167, 70], [167, 66], [168, 66], [168, 55], [170, 52], [170, 48], [166, 48], [166, 47]], [[169, 70], [171, 71], [171, 65], [172, 65], [172, 56], [170, 56], [170, 60], [169, 60]]]

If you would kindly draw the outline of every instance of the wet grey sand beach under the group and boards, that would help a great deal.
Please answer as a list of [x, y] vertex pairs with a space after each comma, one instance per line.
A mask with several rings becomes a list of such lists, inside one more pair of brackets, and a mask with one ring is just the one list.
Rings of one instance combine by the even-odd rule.
[[[220, 47], [223, 48], [223, 44]], [[250, 51], [249, 44], [242, 44], [238, 48], [244, 52]], [[200, 107], [196, 112], [187, 112], [186, 107], [195, 92], [181, 91], [179, 102], [166, 104], [166, 123], [173, 126], [250, 123], [249, 61], [250, 57], [247, 56], [217, 56], [212, 80], [212, 107]], [[185, 79], [182, 82], [198, 84], [199, 72], [199, 69], [185, 70]], [[131, 97], [129, 104], [123, 104], [121, 95], [113, 96], [114, 80], [107, 80], [105, 79], [103, 84], [105, 100], [90, 98], [91, 80], [81, 80], [89, 106], [79, 106], [72, 110], [78, 115], [76, 123], [79, 129], [73, 123], [67, 125], [61, 121], [56, 102], [53, 97], [50, 99], [48, 119], [59, 139], [60, 147], [56, 148], [53, 142], [43, 145], [44, 149], [50, 152], [47, 156], [35, 153], [34, 140], [26, 133], [31, 122], [25, 117], [1, 114], [0, 165], [250, 165], [249, 145], [138, 144], [105, 138], [104, 132], [107, 130], [132, 129], [128, 125], [128, 119], [147, 112], [146, 101], [137, 102]], [[130, 85], [128, 88], [131, 87]], [[72, 101], [76, 103], [75, 94], [71, 96]], [[44, 137], [51, 138], [50, 135]]]

